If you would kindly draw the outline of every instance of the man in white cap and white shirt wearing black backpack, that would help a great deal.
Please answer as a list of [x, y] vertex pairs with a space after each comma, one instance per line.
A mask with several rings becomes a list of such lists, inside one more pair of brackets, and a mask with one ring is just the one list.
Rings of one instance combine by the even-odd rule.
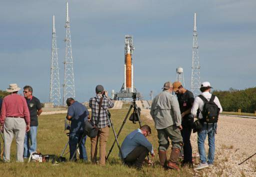
[[[200, 120], [200, 123], [202, 124], [202, 128], [197, 131], [197, 145], [198, 145], [198, 151], [200, 155], [200, 164], [195, 167], [195, 170], [211, 167], [213, 166], [214, 161], [214, 152], [215, 152], [215, 132], [217, 128], [217, 123], [208, 123], [206, 122], [206, 117], [203, 115], [204, 113], [204, 104], [206, 102], [213, 101], [215, 103], [215, 106], [217, 106], [218, 112], [222, 112], [222, 107], [220, 105], [220, 102], [217, 98], [217, 96], [212, 95], [210, 93], [210, 83], [208, 81], [202, 82], [200, 91], [201, 94], [196, 96], [193, 102], [193, 106], [191, 108], [191, 114], [194, 117], [197, 117]], [[214, 104], [213, 103], [213, 104]], [[197, 110], [199, 109], [198, 113]], [[209, 144], [209, 151], [208, 151], [208, 157], [206, 158], [205, 154], [205, 148], [204, 148], [204, 141], [206, 138], [206, 135], [208, 135], [208, 144]]]

